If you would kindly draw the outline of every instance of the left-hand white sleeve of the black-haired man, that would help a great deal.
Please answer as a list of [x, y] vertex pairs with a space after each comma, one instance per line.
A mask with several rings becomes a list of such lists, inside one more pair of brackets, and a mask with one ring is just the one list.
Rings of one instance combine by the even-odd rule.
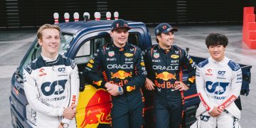
[[203, 68], [196, 68], [196, 90], [198, 92], [198, 96], [203, 102], [203, 105], [206, 107], [206, 110], [208, 112], [211, 112], [213, 110], [213, 105], [211, 104], [210, 100], [208, 99], [206, 95], [206, 90], [205, 90], [205, 80], [203, 78], [203, 73], [202, 73]]

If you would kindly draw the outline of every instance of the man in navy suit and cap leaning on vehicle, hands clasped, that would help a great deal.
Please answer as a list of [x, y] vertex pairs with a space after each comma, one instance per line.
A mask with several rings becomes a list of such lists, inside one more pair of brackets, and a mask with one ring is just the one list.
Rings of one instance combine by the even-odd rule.
[[[98, 87], [106, 87], [112, 97], [112, 127], [142, 127], [142, 92], [146, 70], [142, 50], [127, 43], [128, 23], [112, 23], [112, 43], [102, 46], [85, 67], [85, 77]], [[102, 75], [97, 75], [98, 69]]]

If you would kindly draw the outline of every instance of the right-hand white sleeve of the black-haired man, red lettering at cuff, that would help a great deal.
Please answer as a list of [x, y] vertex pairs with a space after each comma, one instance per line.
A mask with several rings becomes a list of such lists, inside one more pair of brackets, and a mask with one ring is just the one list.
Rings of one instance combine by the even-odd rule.
[[231, 90], [225, 100], [218, 106], [218, 108], [224, 109], [228, 107], [232, 102], [234, 102], [238, 96], [240, 95], [241, 87], [242, 87], [242, 70], [233, 71], [233, 79], [231, 81]]

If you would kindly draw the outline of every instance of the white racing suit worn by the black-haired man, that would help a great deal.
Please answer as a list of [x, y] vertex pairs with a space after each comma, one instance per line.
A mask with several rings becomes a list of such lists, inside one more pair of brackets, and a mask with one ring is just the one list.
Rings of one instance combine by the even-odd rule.
[[[242, 86], [242, 71], [240, 65], [229, 58], [216, 62], [208, 58], [198, 64], [196, 69], [196, 89], [201, 103], [196, 111], [198, 119], [192, 127], [240, 127], [240, 110], [235, 100], [240, 95]], [[213, 107], [225, 109], [218, 117], [210, 117], [208, 112]]]

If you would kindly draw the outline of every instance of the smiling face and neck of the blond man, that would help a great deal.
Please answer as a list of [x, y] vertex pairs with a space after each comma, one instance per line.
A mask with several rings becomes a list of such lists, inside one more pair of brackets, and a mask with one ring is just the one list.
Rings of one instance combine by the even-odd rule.
[[55, 28], [46, 28], [42, 31], [42, 37], [38, 39], [42, 46], [42, 54], [47, 58], [54, 58], [58, 55], [60, 46], [60, 31]]

